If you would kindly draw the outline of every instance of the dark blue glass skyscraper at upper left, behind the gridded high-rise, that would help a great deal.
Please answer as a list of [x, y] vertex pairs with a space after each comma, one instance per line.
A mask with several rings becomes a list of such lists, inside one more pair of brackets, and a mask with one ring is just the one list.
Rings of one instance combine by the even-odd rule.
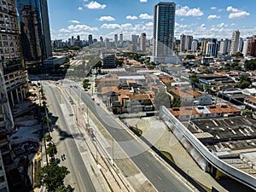
[[17, 0], [20, 40], [26, 67], [38, 67], [52, 56], [46, 0]]

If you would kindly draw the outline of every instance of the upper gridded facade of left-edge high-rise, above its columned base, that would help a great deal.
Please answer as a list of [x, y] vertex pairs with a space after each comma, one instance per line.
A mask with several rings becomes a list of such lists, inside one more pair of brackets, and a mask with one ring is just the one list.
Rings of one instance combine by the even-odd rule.
[[0, 60], [8, 92], [9, 104], [22, 101], [26, 96], [24, 61], [20, 49], [20, 31], [15, 9], [15, 1], [0, 1]]

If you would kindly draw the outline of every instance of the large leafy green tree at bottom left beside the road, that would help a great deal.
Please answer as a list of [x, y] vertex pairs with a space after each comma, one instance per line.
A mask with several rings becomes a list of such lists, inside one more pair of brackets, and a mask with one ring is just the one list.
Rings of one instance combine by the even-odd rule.
[[56, 163], [50, 163], [42, 167], [38, 173], [38, 179], [50, 191], [65, 191], [59, 189], [64, 187], [64, 178], [68, 173], [70, 172], [66, 166], [58, 166]]

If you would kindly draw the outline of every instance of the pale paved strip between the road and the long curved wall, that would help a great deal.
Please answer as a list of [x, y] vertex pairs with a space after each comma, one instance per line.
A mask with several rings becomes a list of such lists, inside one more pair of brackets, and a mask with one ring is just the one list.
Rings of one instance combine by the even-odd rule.
[[[208, 189], [218, 189], [219, 192], [226, 192], [207, 172], [201, 170], [195, 160], [189, 155], [183, 145], [179, 143], [177, 137], [168, 131], [165, 123], [158, 117], [147, 117], [142, 119], [125, 119], [129, 125], [137, 125], [143, 131], [143, 137], [147, 138], [154, 147], [160, 151], [172, 154], [173, 160], [190, 177], [206, 186]], [[185, 180], [185, 178], [183, 178]]]

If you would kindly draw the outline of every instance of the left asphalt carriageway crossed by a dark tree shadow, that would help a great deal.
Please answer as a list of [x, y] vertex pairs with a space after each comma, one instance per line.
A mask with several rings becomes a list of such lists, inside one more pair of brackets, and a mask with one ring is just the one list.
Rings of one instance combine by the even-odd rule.
[[[47, 96], [49, 113], [57, 119], [55, 131], [52, 132], [54, 142], [58, 149], [57, 157], [61, 159], [61, 154], [65, 154], [66, 160], [61, 161], [61, 166], [67, 166], [70, 174], [66, 177], [66, 183], [70, 184], [78, 192], [96, 192], [96, 188], [91, 181], [89, 172], [84, 166], [84, 161], [79, 153], [79, 149], [70, 133], [67, 125], [67, 114], [65, 115], [60, 106], [60, 90], [55, 85], [44, 83], [44, 90]], [[63, 98], [62, 102], [65, 102]]]

